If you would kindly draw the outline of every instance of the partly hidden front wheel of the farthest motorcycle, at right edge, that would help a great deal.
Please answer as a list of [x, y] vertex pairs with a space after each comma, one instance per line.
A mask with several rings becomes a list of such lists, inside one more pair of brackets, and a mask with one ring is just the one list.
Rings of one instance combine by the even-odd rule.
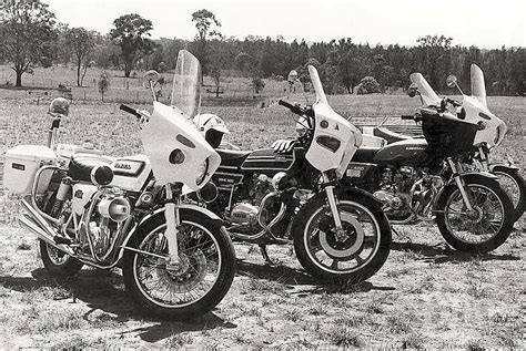
[[514, 207], [513, 221], [517, 221], [524, 214], [525, 207], [525, 186], [524, 178], [517, 169], [509, 169], [508, 167], [495, 166], [492, 171], [498, 177], [500, 187], [506, 192], [512, 199]]

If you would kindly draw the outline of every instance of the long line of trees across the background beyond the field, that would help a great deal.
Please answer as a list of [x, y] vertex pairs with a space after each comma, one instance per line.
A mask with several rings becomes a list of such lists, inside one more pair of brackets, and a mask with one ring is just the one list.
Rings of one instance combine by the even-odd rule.
[[55, 23], [40, 1], [12, 1], [0, 8], [0, 62], [11, 64], [18, 86], [32, 66], [73, 64], [81, 86], [90, 66], [121, 69], [124, 76], [149, 69], [162, 72], [174, 69], [179, 50], [186, 49], [200, 59], [218, 92], [225, 74], [251, 78], [257, 92], [264, 87], [262, 79], [286, 79], [292, 70], [306, 80], [306, 65], [313, 64], [330, 93], [405, 89], [412, 72], [424, 74], [437, 91], [447, 90], [445, 79], [453, 73], [467, 90], [469, 65], [476, 63], [484, 71], [488, 94], [525, 94], [524, 48], [481, 50], [453, 45], [453, 39], [444, 35], [416, 38], [414, 47], [370, 45], [351, 38], [308, 43], [289, 43], [282, 37], [240, 40], [221, 34], [221, 22], [208, 10], [195, 11], [189, 20], [195, 24], [194, 40], [152, 40], [152, 22], [139, 14], [121, 16], [110, 33], [101, 34]]

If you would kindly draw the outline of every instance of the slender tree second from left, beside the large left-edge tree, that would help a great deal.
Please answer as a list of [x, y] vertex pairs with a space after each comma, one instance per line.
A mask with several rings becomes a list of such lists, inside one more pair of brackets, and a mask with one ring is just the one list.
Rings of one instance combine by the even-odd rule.
[[65, 33], [65, 44], [73, 53], [77, 64], [77, 86], [82, 86], [85, 72], [95, 51], [95, 42], [97, 32], [89, 32], [84, 28], [72, 28]]

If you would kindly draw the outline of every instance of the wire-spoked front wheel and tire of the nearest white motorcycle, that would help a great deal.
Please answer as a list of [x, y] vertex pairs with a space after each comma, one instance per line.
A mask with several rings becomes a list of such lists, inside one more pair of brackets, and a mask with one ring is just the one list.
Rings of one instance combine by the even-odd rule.
[[[202, 213], [181, 209], [180, 214], [179, 250], [180, 257], [188, 266], [183, 273], [170, 272], [164, 260], [161, 261], [131, 250], [124, 252], [122, 271], [127, 291], [131, 295], [138, 309], [145, 314], [178, 320], [199, 317], [211, 311], [221, 302], [234, 279], [235, 252], [229, 235], [221, 230], [216, 221]], [[161, 213], [139, 229], [140, 231], [129, 242], [129, 246], [163, 255], [166, 252], [166, 240], [159, 234], [164, 229], [164, 213]], [[190, 229], [194, 231], [190, 233]], [[203, 238], [205, 241], [202, 241]], [[190, 252], [190, 249], [193, 251]], [[146, 269], [150, 271], [148, 276], [144, 276]], [[210, 269], [212, 269], [212, 282], [209, 281], [210, 285], [204, 286], [202, 295], [196, 298], [191, 296], [190, 293], [200, 293], [198, 288], [204, 285]], [[149, 289], [148, 279], [150, 277], [159, 278], [156, 281], [161, 281], [161, 286], [156, 283], [150, 286]], [[166, 291], [164, 296], [158, 293], [162, 289]], [[181, 293], [183, 289], [185, 292]], [[168, 295], [166, 299], [164, 299], [165, 295]], [[191, 301], [178, 300], [185, 297], [190, 297]]]

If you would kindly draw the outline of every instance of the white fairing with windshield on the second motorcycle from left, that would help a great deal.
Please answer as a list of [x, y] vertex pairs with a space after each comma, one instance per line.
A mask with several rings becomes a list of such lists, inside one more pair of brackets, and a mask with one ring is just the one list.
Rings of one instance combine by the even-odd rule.
[[[344, 117], [334, 112], [327, 103], [317, 71], [308, 65], [308, 73], [316, 92], [314, 136], [305, 158], [320, 172], [336, 169], [342, 177], [356, 149], [362, 145], [362, 133]], [[330, 148], [321, 143], [323, 138], [337, 140], [338, 147]]]

